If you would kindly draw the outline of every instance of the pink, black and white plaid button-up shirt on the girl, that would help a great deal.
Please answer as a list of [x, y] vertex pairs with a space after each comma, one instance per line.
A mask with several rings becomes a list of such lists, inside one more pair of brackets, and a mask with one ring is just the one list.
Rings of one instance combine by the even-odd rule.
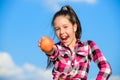
[[93, 41], [77, 41], [72, 52], [64, 44], [57, 43], [57, 49], [49, 58], [54, 64], [53, 80], [87, 80], [90, 62], [93, 60], [100, 69], [96, 80], [107, 80], [111, 75], [111, 67]]

